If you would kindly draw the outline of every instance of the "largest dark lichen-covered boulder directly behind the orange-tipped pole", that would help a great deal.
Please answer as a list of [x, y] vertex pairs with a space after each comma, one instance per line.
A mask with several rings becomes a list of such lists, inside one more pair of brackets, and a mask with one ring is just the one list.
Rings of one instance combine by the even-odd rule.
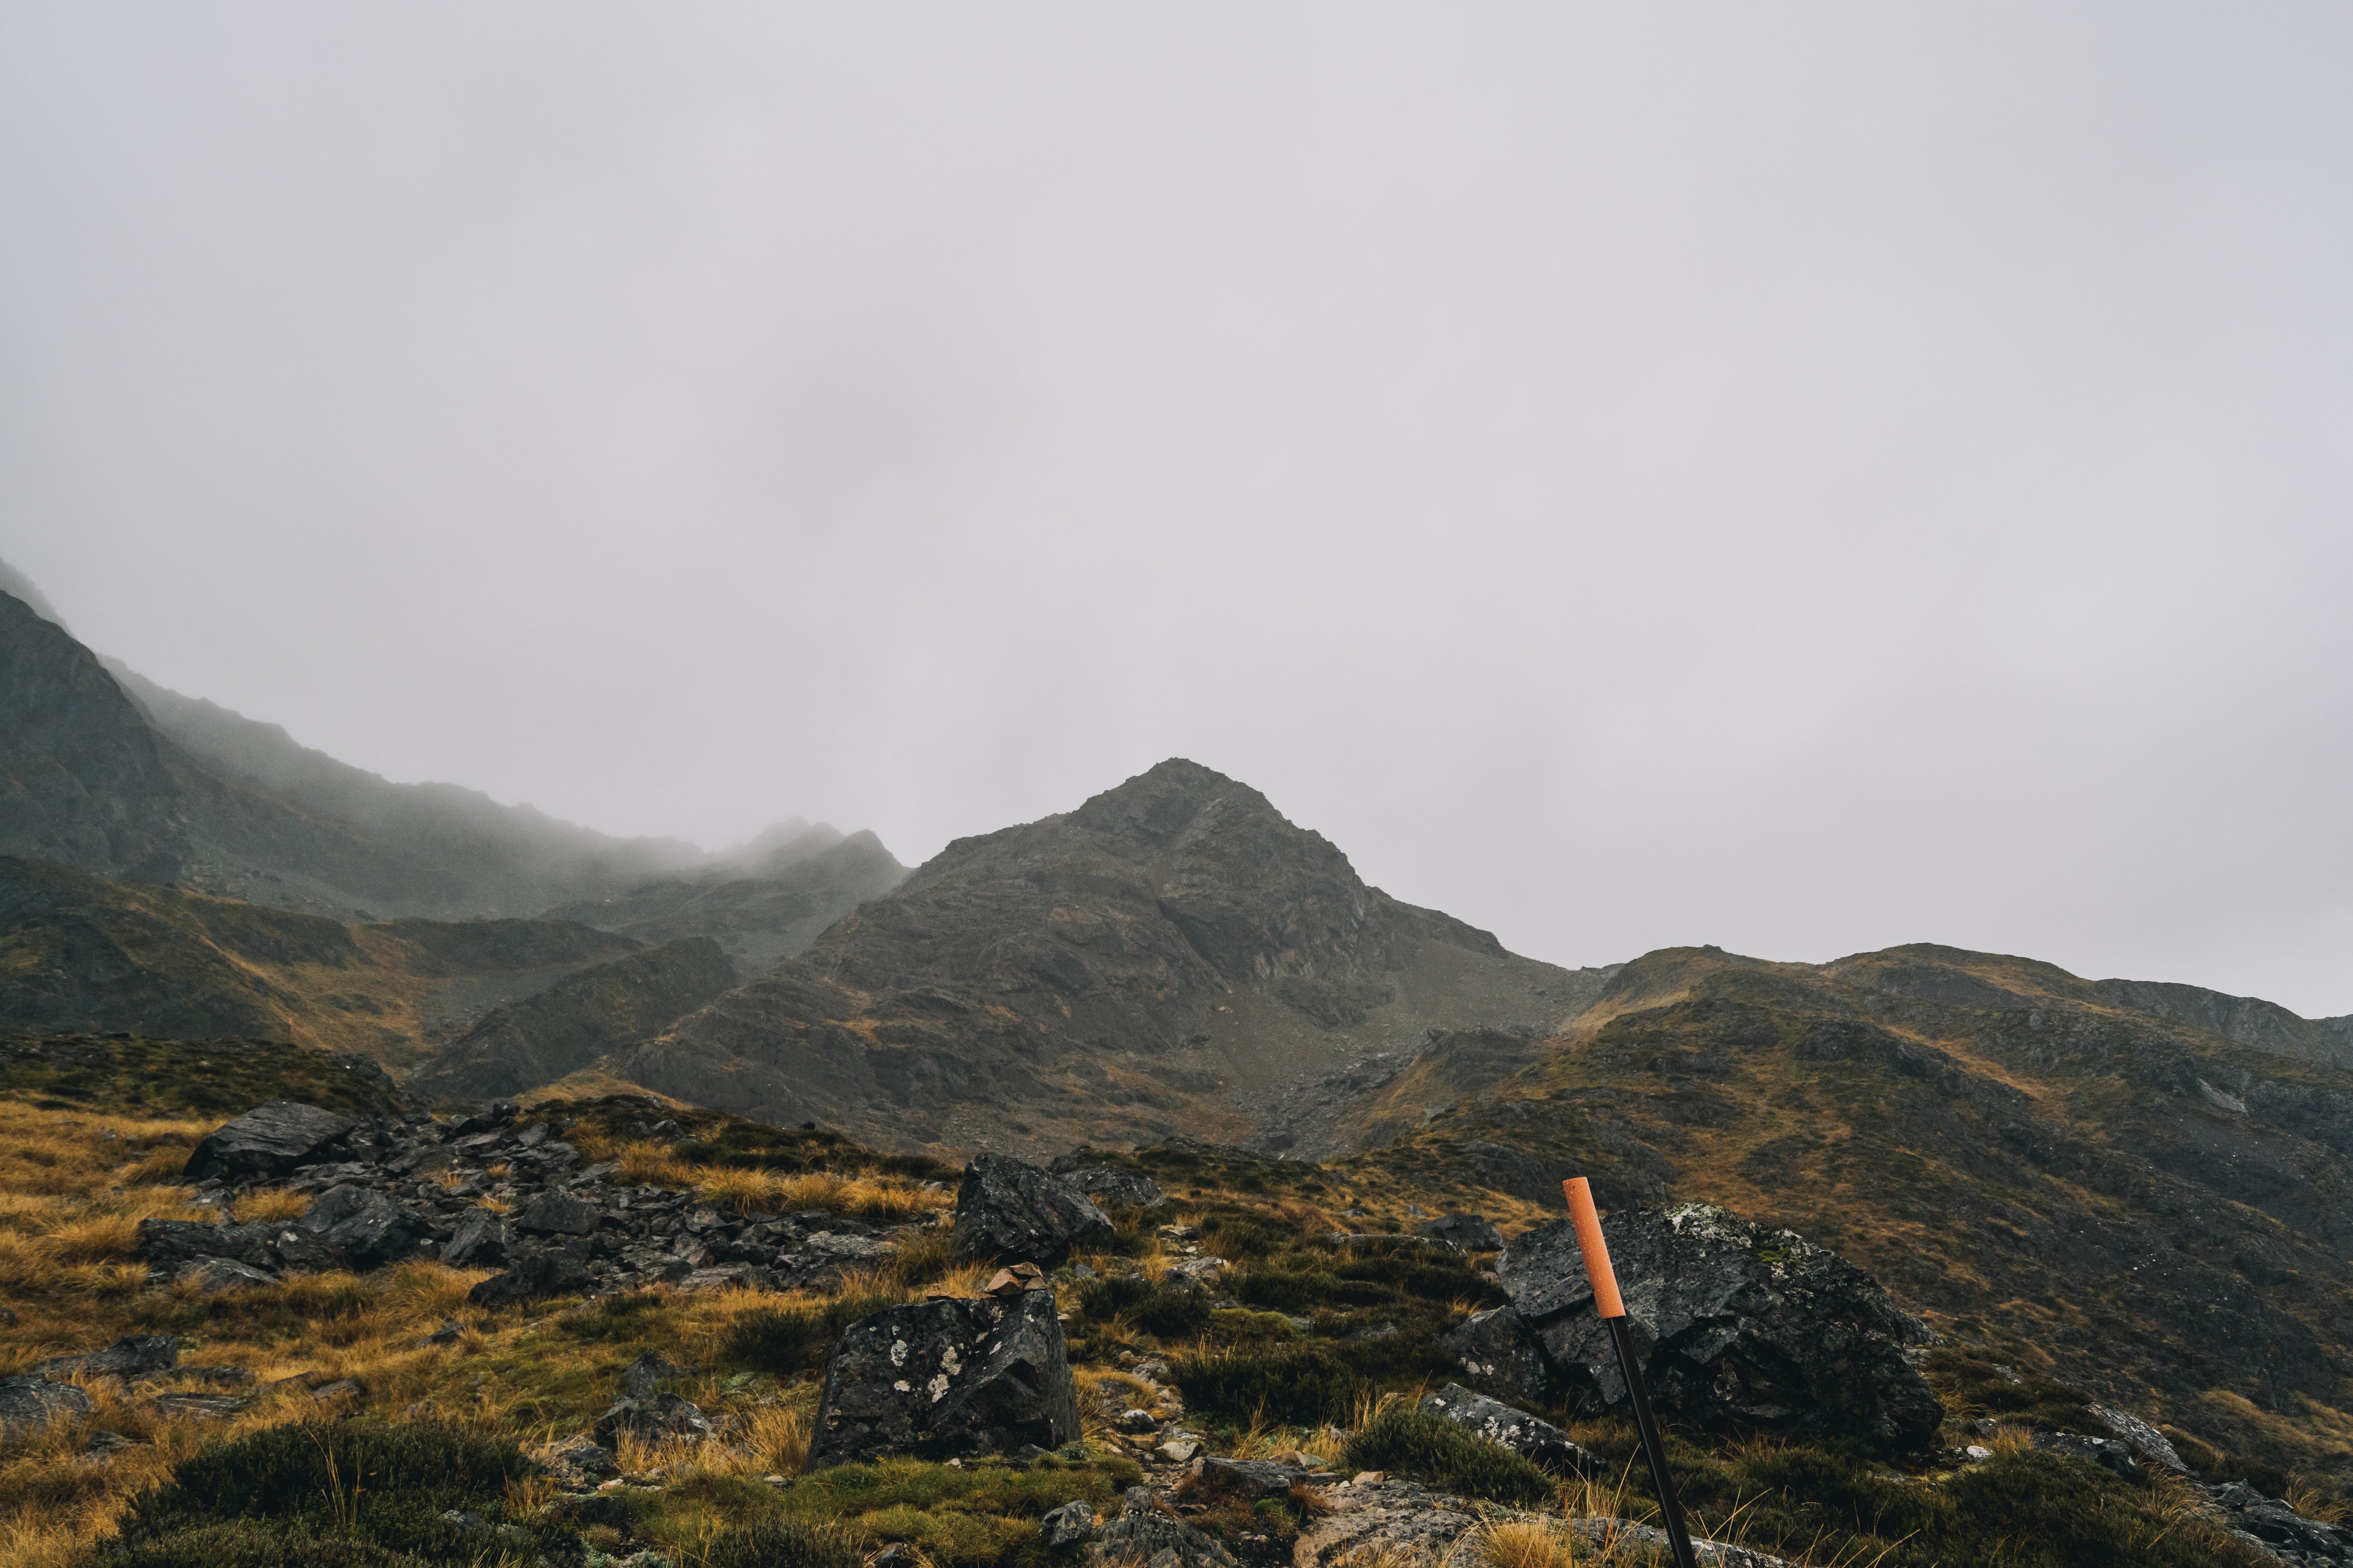
[[[1944, 1420], [1904, 1359], [1927, 1328], [1835, 1253], [1708, 1204], [1619, 1211], [1602, 1234], [1661, 1415], [1859, 1436], [1887, 1453], [1922, 1448]], [[1518, 1237], [1497, 1272], [1569, 1406], [1624, 1403], [1626, 1380], [1569, 1222]]]

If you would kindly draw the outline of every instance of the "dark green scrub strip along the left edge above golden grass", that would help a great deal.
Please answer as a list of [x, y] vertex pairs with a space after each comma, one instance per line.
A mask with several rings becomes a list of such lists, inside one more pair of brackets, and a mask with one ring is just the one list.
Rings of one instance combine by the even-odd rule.
[[266, 1039], [108, 1034], [0, 1039], [0, 1098], [40, 1110], [224, 1121], [264, 1100], [301, 1100], [346, 1117], [407, 1110], [407, 1098], [384, 1067], [365, 1056], [332, 1056]]

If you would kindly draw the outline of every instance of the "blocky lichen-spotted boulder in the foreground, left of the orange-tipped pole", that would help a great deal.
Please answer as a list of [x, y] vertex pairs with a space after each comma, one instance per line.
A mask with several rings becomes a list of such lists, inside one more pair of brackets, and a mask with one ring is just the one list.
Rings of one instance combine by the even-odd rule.
[[1078, 1441], [1078, 1392], [1052, 1291], [887, 1307], [842, 1331], [809, 1465], [882, 1453], [946, 1460]]

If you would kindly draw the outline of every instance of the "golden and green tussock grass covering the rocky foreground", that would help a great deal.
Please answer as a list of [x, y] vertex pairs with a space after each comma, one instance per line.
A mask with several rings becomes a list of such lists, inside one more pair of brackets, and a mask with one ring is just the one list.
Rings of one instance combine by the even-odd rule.
[[[205, 1048], [209, 1051], [209, 1046]], [[209, 1060], [181, 1058], [186, 1070]], [[489, 1561], [452, 1530], [405, 1526], [398, 1507], [336, 1497], [320, 1476], [329, 1460], [358, 1460], [379, 1476], [412, 1476], [433, 1509], [473, 1509], [534, 1549], [626, 1556], [656, 1549], [673, 1563], [786, 1561], [755, 1542], [788, 1526], [791, 1561], [852, 1568], [904, 1542], [934, 1568], [1056, 1568], [1038, 1542], [1038, 1519], [1068, 1500], [1115, 1507], [1122, 1488], [1148, 1481], [1247, 1568], [1289, 1561], [1322, 1502], [1294, 1493], [1259, 1505], [1188, 1488], [1146, 1441], [1115, 1432], [1115, 1410], [1151, 1401], [1184, 1413], [1209, 1453], [1285, 1458], [1339, 1469], [1379, 1458], [1386, 1469], [1508, 1505], [1464, 1542], [1475, 1568], [1569, 1568], [1593, 1561], [1567, 1535], [1574, 1516], [1642, 1516], [1647, 1488], [1633, 1439], [1617, 1422], [1572, 1436], [1607, 1472], [1565, 1481], [1431, 1446], [1400, 1420], [1400, 1396], [1449, 1375], [1431, 1335], [1494, 1300], [1482, 1258], [1445, 1258], [1405, 1241], [1334, 1251], [1325, 1234], [1405, 1229], [1414, 1199], [1435, 1192], [1384, 1171], [1372, 1185], [1304, 1161], [1235, 1150], [1167, 1147], [1111, 1157], [1151, 1173], [1172, 1204], [1129, 1213], [1113, 1248], [1056, 1276], [1078, 1368], [1085, 1441], [1033, 1462], [962, 1467], [918, 1460], [845, 1465], [800, 1474], [816, 1385], [838, 1328], [885, 1302], [972, 1293], [984, 1269], [955, 1267], [946, 1237], [904, 1246], [840, 1291], [642, 1291], [598, 1302], [558, 1300], [473, 1312], [475, 1272], [407, 1262], [372, 1276], [296, 1276], [278, 1286], [198, 1295], [151, 1288], [129, 1262], [136, 1218], [207, 1218], [172, 1185], [186, 1150], [214, 1124], [153, 1117], [186, 1088], [151, 1074], [153, 1093], [129, 1093], [113, 1114], [0, 1103], [0, 1309], [12, 1331], [0, 1371], [80, 1352], [127, 1333], [179, 1335], [184, 1387], [245, 1389], [212, 1415], [188, 1401], [92, 1385], [94, 1410], [73, 1427], [0, 1448], [0, 1561], [66, 1568], [92, 1552], [165, 1533], [240, 1563], [473, 1563]], [[833, 1133], [767, 1128], [711, 1112], [678, 1114], [642, 1098], [548, 1103], [536, 1114], [569, 1124], [584, 1154], [619, 1161], [626, 1180], [699, 1187], [713, 1206], [826, 1206], [922, 1220], [946, 1211], [941, 1178], [922, 1157], [882, 1157]], [[664, 1138], [647, 1126], [673, 1121]], [[1489, 1194], [1489, 1211], [1534, 1208]], [[247, 1199], [252, 1213], [294, 1215], [296, 1194]], [[1369, 1213], [1344, 1211], [1367, 1208]], [[1162, 1225], [1198, 1227], [1200, 1239]], [[1174, 1288], [1172, 1265], [1195, 1255], [1233, 1260], [1224, 1300]], [[445, 1319], [459, 1331], [433, 1335]], [[1379, 1333], [1367, 1333], [1379, 1331]], [[525, 1462], [551, 1439], [588, 1427], [616, 1392], [619, 1368], [640, 1352], [687, 1366], [671, 1387], [720, 1425], [701, 1448], [624, 1443], [624, 1483], [565, 1493]], [[1774, 1549], [1791, 1561], [1852, 1568], [2212, 1568], [2252, 1566], [2219, 1535], [2193, 1493], [2169, 1481], [2118, 1481], [2080, 1460], [2035, 1450], [2026, 1425], [2066, 1422], [2082, 1394], [2049, 1380], [2012, 1380], [1977, 1352], [1951, 1349], [1929, 1368], [1953, 1415], [1951, 1439], [1979, 1418], [2000, 1425], [1993, 1458], [1889, 1467], [1838, 1446], [1673, 1436], [1694, 1523], [1722, 1540]], [[249, 1375], [249, 1380], [245, 1378]], [[129, 1439], [106, 1462], [82, 1453], [87, 1432]], [[2188, 1455], [2212, 1476], [2287, 1479], [2214, 1448]], [[318, 1472], [318, 1474], [313, 1474]], [[2306, 1486], [2306, 1507], [2325, 1493]], [[391, 1512], [386, 1512], [391, 1509]], [[384, 1530], [407, 1528], [386, 1556]], [[424, 1540], [424, 1544], [419, 1544]], [[440, 1540], [442, 1547], [433, 1542]], [[480, 1540], [480, 1537], [473, 1537]], [[242, 1542], [242, 1544], [238, 1544]], [[235, 1554], [231, 1554], [235, 1547]], [[826, 1556], [831, 1554], [831, 1556]], [[202, 1561], [188, 1556], [122, 1561]], [[1614, 1561], [1642, 1561], [1624, 1556]]]

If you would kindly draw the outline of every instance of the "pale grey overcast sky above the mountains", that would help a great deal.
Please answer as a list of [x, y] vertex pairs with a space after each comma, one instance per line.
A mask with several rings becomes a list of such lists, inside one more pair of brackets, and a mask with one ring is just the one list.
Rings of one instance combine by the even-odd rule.
[[2341, 5], [12, 5], [0, 555], [612, 832], [1186, 755], [1562, 964], [2344, 1013], [2348, 80]]

